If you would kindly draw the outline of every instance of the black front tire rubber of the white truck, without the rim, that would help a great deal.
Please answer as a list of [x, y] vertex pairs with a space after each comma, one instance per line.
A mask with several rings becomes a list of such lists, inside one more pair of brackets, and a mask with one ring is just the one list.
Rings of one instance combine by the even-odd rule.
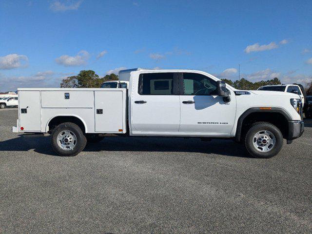
[[[256, 133], [261, 131], [270, 131], [275, 137], [275, 144], [268, 152], [258, 151], [254, 146], [254, 137]], [[256, 122], [251, 125], [245, 137], [245, 146], [248, 153], [257, 158], [270, 158], [279, 153], [283, 146], [283, 135], [281, 131], [273, 124], [268, 122]], [[258, 148], [259, 150], [261, 149]]]

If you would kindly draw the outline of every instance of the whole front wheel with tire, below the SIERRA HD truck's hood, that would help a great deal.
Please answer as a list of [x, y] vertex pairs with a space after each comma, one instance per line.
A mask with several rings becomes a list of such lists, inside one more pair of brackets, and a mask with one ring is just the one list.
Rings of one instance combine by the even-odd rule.
[[245, 137], [245, 146], [249, 154], [259, 158], [270, 158], [279, 153], [283, 146], [283, 135], [273, 124], [254, 123]]

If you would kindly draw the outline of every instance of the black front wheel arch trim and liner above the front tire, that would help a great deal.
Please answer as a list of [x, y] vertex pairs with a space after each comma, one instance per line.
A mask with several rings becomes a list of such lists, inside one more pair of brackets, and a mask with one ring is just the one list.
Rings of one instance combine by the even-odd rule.
[[[279, 116], [283, 117], [284, 119], [281, 119], [282, 121], [288, 121], [292, 120], [292, 117], [282, 108], [278, 107], [272, 107], [271, 109], [260, 109], [260, 107], [253, 107], [246, 110], [237, 120], [237, 126], [236, 126], [236, 133], [235, 133], [235, 140], [237, 142], [241, 141], [242, 137], [242, 130], [244, 127], [244, 120], [247, 120], [248, 117], [252, 117], [252, 115], [260, 114], [261, 117], [265, 116], [265, 114], [268, 114], [268, 116]], [[258, 121], [263, 121], [263, 118], [259, 117]], [[271, 121], [268, 121], [271, 122]], [[272, 123], [272, 122], [271, 122]], [[285, 128], [287, 128], [288, 131], [288, 124], [286, 124]], [[283, 134], [287, 134], [284, 133]]]

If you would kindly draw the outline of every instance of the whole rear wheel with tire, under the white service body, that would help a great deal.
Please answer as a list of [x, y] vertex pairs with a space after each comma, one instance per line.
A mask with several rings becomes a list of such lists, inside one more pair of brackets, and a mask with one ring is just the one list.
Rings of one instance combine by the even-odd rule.
[[52, 132], [51, 144], [59, 156], [78, 155], [86, 146], [87, 140], [75, 123], [59, 124]]

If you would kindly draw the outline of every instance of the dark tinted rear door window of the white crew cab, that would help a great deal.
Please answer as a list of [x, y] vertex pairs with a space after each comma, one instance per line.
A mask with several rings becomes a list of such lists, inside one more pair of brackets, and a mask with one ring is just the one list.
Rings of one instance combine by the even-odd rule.
[[148, 73], [139, 78], [140, 95], [173, 95], [174, 73]]

